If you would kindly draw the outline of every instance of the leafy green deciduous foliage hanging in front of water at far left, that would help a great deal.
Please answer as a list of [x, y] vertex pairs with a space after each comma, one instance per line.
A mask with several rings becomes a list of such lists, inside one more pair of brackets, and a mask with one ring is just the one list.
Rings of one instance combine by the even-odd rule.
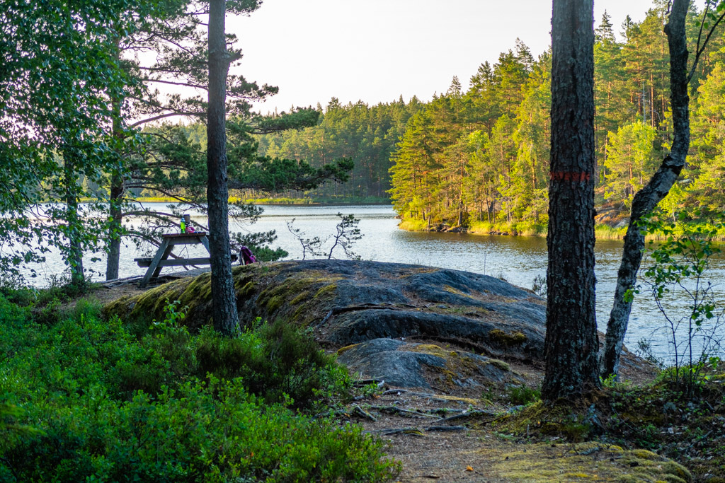
[[2, 4], [0, 28], [10, 43], [0, 75], [0, 175], [12, 186], [0, 193], [2, 272], [42, 261], [53, 245], [72, 281], [83, 282], [83, 252], [99, 247], [104, 218], [83, 216], [78, 201], [97, 200], [101, 173], [117, 164], [110, 133], [117, 113], [108, 99], [133, 91], [117, 36], [130, 35], [134, 19], [154, 5]]

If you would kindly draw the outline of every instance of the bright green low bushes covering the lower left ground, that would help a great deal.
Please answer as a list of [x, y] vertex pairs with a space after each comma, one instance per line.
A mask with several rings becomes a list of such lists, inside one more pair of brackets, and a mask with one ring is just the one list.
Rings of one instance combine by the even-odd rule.
[[239, 337], [183, 310], [104, 320], [79, 301], [38, 318], [0, 295], [1, 482], [387, 481], [397, 463], [358, 427], [310, 416], [349, 397], [347, 372], [304, 332]]

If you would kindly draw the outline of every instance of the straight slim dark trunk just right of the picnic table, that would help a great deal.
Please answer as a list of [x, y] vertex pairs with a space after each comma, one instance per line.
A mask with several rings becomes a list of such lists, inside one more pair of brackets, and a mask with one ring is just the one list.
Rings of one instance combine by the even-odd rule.
[[212, 265], [214, 328], [224, 335], [239, 332], [239, 314], [231, 274], [229, 243], [229, 189], [226, 157], [226, 78], [230, 56], [226, 50], [225, 0], [209, 2], [209, 108], [207, 111], [207, 203]]

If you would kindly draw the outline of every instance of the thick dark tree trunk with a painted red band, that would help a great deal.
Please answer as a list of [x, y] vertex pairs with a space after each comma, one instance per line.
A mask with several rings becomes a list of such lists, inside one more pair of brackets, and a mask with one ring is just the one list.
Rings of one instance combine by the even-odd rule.
[[545, 400], [599, 386], [593, 9], [592, 0], [554, 0]]

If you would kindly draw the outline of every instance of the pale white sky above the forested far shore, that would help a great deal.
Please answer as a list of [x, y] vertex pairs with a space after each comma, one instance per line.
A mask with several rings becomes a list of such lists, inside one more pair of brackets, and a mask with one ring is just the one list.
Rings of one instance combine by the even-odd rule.
[[[595, 1], [615, 32], [629, 14], [645, 18], [652, 0]], [[428, 101], [453, 76], [468, 80], [483, 62], [526, 43], [534, 56], [551, 43], [551, 0], [264, 0], [249, 17], [228, 17], [244, 57], [232, 72], [279, 93], [260, 112], [291, 106]]]

